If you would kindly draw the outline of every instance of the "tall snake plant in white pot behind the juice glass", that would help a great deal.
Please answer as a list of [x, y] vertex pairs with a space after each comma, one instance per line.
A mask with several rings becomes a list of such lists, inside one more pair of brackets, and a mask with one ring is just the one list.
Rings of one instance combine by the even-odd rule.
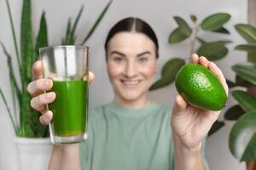
[[[84, 37], [83, 45], [96, 30], [96, 27], [101, 22], [104, 14], [108, 11], [108, 8], [112, 0], [103, 8], [102, 13], [99, 15], [95, 24], [92, 26], [88, 34]], [[29, 82], [32, 82], [32, 64], [37, 60], [38, 48], [48, 46], [48, 31], [45, 14], [41, 15], [40, 26], [37, 37], [34, 39], [32, 35], [32, 8], [31, 0], [23, 0], [21, 25], [20, 25], [20, 48], [18, 46], [15, 34], [15, 26], [12, 20], [12, 14], [9, 7], [9, 1], [6, 0], [9, 21], [11, 25], [12, 37], [15, 45], [15, 57], [18, 64], [18, 71], [20, 77], [20, 83], [15, 77], [13, 56], [5, 48], [3, 42], [0, 42], [3, 53], [7, 57], [7, 64], [9, 66], [9, 81], [11, 85], [12, 105], [14, 105], [13, 112], [10, 110], [9, 104], [5, 98], [4, 92], [0, 87], [0, 96], [3, 99], [7, 112], [9, 114], [10, 121], [15, 130], [15, 142], [18, 146], [20, 154], [20, 166], [21, 169], [46, 169], [47, 162], [49, 160], [49, 154], [51, 150], [51, 144], [49, 140], [48, 126], [42, 126], [40, 124], [40, 113], [33, 111], [30, 107], [31, 96], [26, 90], [26, 86]], [[77, 44], [75, 39], [76, 26], [79, 23], [80, 16], [83, 12], [82, 6], [79, 10], [79, 14], [76, 17], [74, 23], [69, 19], [67, 22], [67, 31], [65, 37], [62, 39], [61, 44]], [[20, 84], [20, 86], [19, 86]], [[16, 108], [16, 105], [19, 107]], [[19, 117], [19, 118], [17, 118]], [[41, 145], [41, 146], [39, 146]], [[33, 161], [31, 161], [33, 160]]]

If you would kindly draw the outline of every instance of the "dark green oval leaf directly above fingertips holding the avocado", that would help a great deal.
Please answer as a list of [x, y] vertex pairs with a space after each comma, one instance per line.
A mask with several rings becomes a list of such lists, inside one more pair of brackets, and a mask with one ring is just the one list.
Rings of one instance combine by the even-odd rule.
[[197, 49], [197, 54], [205, 56], [209, 60], [222, 59], [228, 54], [228, 48], [224, 46], [223, 42], [207, 42], [201, 44]]

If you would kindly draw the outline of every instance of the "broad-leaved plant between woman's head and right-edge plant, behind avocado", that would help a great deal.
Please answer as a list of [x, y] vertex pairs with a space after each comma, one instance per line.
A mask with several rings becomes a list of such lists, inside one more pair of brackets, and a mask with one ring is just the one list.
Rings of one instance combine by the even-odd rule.
[[[197, 20], [195, 14], [191, 14], [190, 20], [192, 21], [193, 26], [189, 26], [188, 22], [181, 17], [174, 16], [173, 18], [177, 22], [177, 28], [171, 32], [168, 42], [172, 45], [185, 40], [189, 41], [188, 57], [185, 59], [181, 57], [172, 57], [172, 59], [168, 60], [162, 68], [160, 79], [154, 82], [150, 90], [163, 88], [174, 82], [177, 71], [179, 71], [186, 61], [189, 60], [191, 54], [196, 53], [200, 56], [206, 56], [209, 60], [223, 59], [224, 56], [228, 54], [226, 44], [230, 43], [230, 40], [210, 41], [207, 40], [207, 37], [201, 37], [201, 32], [208, 31], [218, 35], [230, 34], [230, 31], [224, 28], [224, 24], [230, 20], [230, 14], [210, 14], [205, 19], [201, 20], [201, 22]], [[214, 122], [208, 136], [217, 132], [218, 129], [223, 126], [224, 122]]]

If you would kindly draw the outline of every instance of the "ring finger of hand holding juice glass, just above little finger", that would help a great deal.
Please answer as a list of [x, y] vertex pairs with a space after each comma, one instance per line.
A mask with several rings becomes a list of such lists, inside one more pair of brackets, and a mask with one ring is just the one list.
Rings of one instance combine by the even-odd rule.
[[33, 97], [30, 101], [31, 107], [36, 110], [43, 112], [45, 105], [52, 103], [55, 100], [55, 93], [49, 92], [47, 94], [40, 94], [37, 97]]

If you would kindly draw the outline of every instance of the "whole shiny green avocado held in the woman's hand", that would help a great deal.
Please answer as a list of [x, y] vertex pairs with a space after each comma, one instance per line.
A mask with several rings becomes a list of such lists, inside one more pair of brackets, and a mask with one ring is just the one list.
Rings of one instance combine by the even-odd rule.
[[210, 111], [224, 108], [227, 94], [212, 71], [203, 65], [187, 64], [177, 72], [177, 92], [190, 105]]

